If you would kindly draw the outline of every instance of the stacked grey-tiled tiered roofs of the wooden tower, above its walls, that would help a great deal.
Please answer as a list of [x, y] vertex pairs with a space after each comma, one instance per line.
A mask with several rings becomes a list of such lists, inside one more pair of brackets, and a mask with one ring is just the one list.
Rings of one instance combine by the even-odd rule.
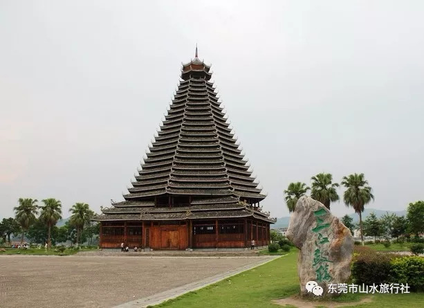
[[[255, 215], [272, 221], [251, 206], [266, 196], [236, 144], [211, 76], [210, 66], [197, 56], [183, 64], [182, 81], [133, 187], [125, 201], [105, 208], [97, 220]], [[157, 197], [169, 195], [191, 201], [167, 210], [155, 206]]]

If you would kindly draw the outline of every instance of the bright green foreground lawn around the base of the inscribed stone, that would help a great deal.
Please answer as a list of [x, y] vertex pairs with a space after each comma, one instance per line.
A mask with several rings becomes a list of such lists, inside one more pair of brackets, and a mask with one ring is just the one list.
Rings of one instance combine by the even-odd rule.
[[[186, 293], [174, 300], [168, 300], [154, 307], [282, 307], [273, 304], [271, 300], [286, 298], [298, 292], [297, 252], [292, 251], [288, 255], [279, 257], [255, 269], [239, 273], [231, 278], [211, 284], [203, 289]], [[364, 296], [371, 296], [373, 301], [358, 305], [355, 301], [358, 302], [362, 294], [347, 294], [347, 296], [342, 296], [335, 301], [353, 301], [351, 305], [345, 306], [350, 308], [421, 308], [424, 302], [424, 293]], [[316, 302], [316, 304], [316, 307], [326, 307], [325, 302]]]

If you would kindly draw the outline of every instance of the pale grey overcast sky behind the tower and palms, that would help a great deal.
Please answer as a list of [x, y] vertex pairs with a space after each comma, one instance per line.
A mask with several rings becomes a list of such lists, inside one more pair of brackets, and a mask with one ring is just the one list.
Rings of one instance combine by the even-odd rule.
[[0, 0], [0, 217], [19, 197], [64, 217], [122, 199], [196, 43], [271, 215], [318, 172], [363, 172], [370, 208], [403, 210], [424, 199], [423, 16], [418, 0]]

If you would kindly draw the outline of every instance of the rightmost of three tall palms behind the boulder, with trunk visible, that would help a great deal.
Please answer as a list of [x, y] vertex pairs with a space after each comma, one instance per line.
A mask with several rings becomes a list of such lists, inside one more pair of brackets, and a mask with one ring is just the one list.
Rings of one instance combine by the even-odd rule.
[[364, 211], [365, 204], [369, 203], [371, 199], [374, 200], [372, 188], [368, 185], [368, 181], [365, 180], [363, 173], [343, 176], [342, 185], [347, 188], [343, 194], [344, 203], [347, 206], [351, 206], [359, 214], [360, 238], [362, 245], [364, 245], [362, 212]]

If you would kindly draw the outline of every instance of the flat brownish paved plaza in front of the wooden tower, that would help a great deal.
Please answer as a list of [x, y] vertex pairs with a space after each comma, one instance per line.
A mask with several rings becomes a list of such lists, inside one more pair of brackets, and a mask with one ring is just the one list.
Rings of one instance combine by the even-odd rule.
[[0, 307], [113, 307], [270, 258], [113, 255], [2, 255]]

